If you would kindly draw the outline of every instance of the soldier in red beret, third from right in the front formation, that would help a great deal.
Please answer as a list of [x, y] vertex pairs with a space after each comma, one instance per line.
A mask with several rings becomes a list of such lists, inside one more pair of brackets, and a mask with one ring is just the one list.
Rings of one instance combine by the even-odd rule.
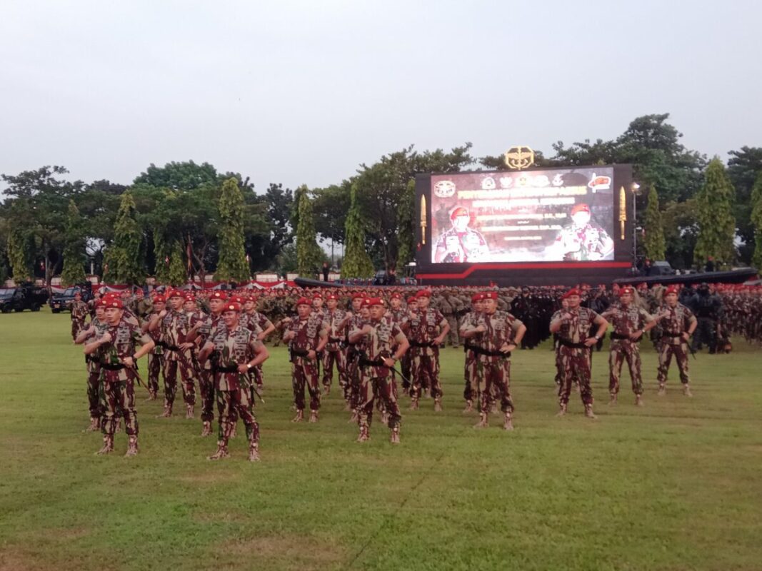
[[[568, 310], [560, 312], [550, 322], [550, 332], [559, 333], [560, 360], [563, 378], [559, 385], [559, 414], [566, 414], [571, 384], [579, 382], [584, 415], [595, 418], [593, 413], [593, 389], [590, 386], [591, 347], [606, 333], [608, 322], [589, 308], [580, 307], [580, 291], [570, 289], [563, 296]], [[598, 326], [594, 337], [588, 337], [592, 324]]]

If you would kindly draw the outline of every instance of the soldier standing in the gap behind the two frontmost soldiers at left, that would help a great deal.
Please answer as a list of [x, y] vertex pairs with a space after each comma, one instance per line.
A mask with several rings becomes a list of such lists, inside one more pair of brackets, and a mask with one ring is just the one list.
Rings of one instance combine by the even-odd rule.
[[[184, 295], [179, 289], [168, 293], [170, 308], [160, 311], [151, 317], [149, 330], [154, 331], [160, 327], [162, 343], [165, 349], [164, 355], [164, 412], [163, 418], [172, 416], [174, 395], [178, 388], [178, 368], [183, 383], [183, 397], [185, 401], [185, 418], [194, 417], [196, 404], [196, 390], [194, 378], [189, 376], [193, 371], [191, 364], [191, 348], [194, 346], [197, 329], [193, 329], [184, 312]], [[197, 321], [200, 327], [201, 321]]]

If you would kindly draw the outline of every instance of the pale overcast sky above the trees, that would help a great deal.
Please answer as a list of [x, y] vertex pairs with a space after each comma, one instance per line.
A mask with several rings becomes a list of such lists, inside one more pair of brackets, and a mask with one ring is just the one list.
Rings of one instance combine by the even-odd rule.
[[415, 144], [762, 146], [762, 2], [2, 2], [0, 173], [209, 161], [320, 187]]

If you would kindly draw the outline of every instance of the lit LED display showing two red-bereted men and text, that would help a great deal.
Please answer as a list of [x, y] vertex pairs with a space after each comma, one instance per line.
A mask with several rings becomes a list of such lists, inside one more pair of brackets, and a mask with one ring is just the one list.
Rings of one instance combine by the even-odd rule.
[[432, 175], [431, 262], [613, 260], [613, 170]]

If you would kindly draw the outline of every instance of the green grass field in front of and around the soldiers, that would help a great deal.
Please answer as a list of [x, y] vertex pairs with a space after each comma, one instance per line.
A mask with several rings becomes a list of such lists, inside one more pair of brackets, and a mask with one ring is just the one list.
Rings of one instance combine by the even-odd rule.
[[[93, 455], [82, 350], [69, 315], [0, 316], [0, 569], [762, 569], [762, 352], [691, 360], [645, 407], [555, 418], [552, 352], [516, 352], [517, 429], [463, 415], [463, 352], [443, 352], [443, 413], [403, 410], [402, 445], [377, 423], [357, 444], [338, 391], [317, 425], [290, 423], [287, 355], [265, 363], [262, 461], [209, 462], [200, 421], [155, 419], [140, 454]], [[144, 362], [141, 365], [145, 371]], [[627, 381], [629, 384], [629, 381]], [[406, 408], [408, 401], [403, 402]], [[239, 429], [239, 434], [242, 429]]]

